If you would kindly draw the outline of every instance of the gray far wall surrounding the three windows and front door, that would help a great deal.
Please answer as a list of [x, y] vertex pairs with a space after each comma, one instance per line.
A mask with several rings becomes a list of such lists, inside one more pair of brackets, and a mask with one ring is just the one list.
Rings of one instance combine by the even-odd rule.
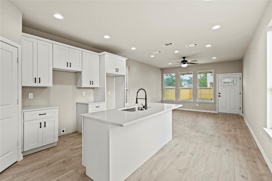
[[[200, 70], [213, 70], [214, 72], [214, 103], [196, 103], [197, 100], [197, 71]], [[240, 73], [242, 72], [242, 61], [230, 61], [230, 62], [219, 62], [212, 64], [200, 64], [200, 65], [188, 65], [186, 68], [183, 68], [182, 71], [193, 71], [193, 98], [194, 102], [179, 102], [178, 100], [178, 75], [181, 72], [181, 67], [175, 68], [163, 68], [162, 74], [165, 73], [176, 73], [176, 101], [162, 101], [162, 103], [170, 104], [182, 104], [181, 108], [185, 109], [195, 109], [195, 110], [208, 110], [216, 111], [216, 74], [225, 74], [225, 73]], [[163, 77], [161, 79], [163, 82]], [[163, 94], [163, 84], [162, 84], [162, 94]]]

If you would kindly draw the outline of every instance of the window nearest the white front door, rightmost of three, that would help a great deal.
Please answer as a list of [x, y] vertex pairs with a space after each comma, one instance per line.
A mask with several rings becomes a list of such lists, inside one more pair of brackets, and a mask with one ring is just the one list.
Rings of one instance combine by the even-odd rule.
[[213, 70], [197, 71], [197, 100], [213, 101]]

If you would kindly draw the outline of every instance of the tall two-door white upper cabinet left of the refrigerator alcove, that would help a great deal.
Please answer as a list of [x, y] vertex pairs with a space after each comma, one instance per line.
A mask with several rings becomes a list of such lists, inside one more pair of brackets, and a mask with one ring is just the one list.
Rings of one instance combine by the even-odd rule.
[[99, 55], [82, 52], [82, 72], [77, 72], [77, 87], [99, 87]]

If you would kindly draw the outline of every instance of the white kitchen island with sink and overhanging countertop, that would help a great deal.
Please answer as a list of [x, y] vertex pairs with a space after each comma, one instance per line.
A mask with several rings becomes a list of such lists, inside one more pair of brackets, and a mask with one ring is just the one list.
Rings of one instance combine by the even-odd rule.
[[172, 110], [149, 103], [82, 114], [82, 164], [97, 180], [125, 180], [172, 139]]

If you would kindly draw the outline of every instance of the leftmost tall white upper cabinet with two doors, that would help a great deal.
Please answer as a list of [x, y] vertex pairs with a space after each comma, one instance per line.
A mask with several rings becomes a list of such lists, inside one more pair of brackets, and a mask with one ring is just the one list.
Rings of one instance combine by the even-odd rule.
[[52, 86], [52, 43], [22, 37], [22, 86]]

